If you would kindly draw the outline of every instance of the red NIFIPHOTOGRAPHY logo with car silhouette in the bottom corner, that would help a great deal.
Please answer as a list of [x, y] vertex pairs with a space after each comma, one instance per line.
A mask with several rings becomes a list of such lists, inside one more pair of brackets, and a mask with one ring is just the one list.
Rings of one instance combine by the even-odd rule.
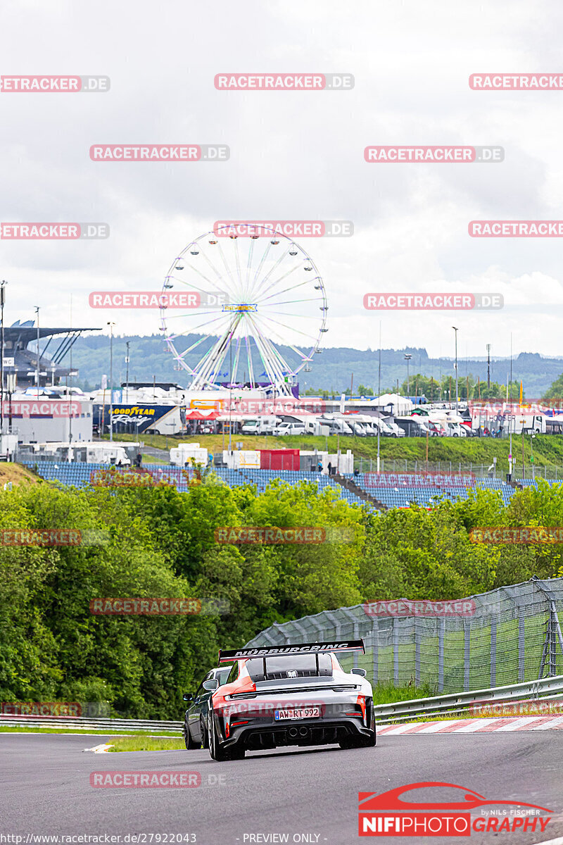
[[[436, 799], [403, 799], [404, 793], [417, 789], [426, 793], [435, 790]], [[457, 790], [450, 801], [443, 800], [446, 790], [450, 794]], [[473, 789], [436, 781], [407, 783], [381, 794], [358, 793], [358, 801], [360, 837], [469, 837], [471, 831], [495, 835], [516, 831], [543, 833], [551, 816], [541, 814], [552, 812], [524, 801], [486, 799]]]

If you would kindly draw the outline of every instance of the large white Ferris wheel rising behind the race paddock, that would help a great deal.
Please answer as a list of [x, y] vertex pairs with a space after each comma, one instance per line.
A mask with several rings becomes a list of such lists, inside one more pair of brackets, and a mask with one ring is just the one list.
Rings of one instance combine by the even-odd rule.
[[174, 259], [162, 292], [194, 292], [198, 307], [163, 305], [160, 331], [190, 390], [246, 384], [290, 395], [328, 331], [321, 275], [273, 227], [253, 224], [249, 235], [234, 229], [218, 226]]

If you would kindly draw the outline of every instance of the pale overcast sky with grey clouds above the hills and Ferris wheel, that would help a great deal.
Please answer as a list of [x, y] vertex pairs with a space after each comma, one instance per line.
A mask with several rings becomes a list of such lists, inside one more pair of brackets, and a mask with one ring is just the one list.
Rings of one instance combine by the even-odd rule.
[[[328, 295], [326, 346], [431, 356], [561, 354], [561, 238], [469, 237], [468, 222], [563, 219], [563, 90], [479, 92], [479, 72], [563, 72], [557, 3], [4, 0], [2, 74], [106, 74], [102, 94], [0, 93], [3, 222], [103, 221], [107, 240], [0, 242], [6, 322], [152, 334], [93, 311], [158, 290], [218, 219], [347, 220], [302, 238]], [[345, 91], [220, 91], [223, 72], [354, 74]], [[97, 162], [91, 144], [228, 144], [226, 162]], [[370, 144], [495, 144], [500, 164], [368, 164]], [[299, 239], [298, 239], [299, 240]], [[499, 292], [491, 313], [377, 313], [366, 292]]]

